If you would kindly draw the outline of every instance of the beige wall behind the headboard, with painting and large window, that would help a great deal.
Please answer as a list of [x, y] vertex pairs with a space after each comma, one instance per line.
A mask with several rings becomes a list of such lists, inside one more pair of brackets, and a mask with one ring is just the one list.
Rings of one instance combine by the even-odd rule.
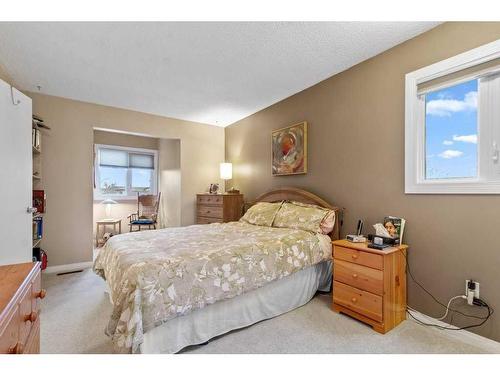
[[[498, 38], [500, 23], [446, 23], [229, 126], [226, 157], [235, 164], [229, 184], [246, 199], [278, 186], [311, 190], [346, 207], [344, 235], [358, 218], [370, 228], [385, 215], [401, 215], [417, 280], [448, 301], [475, 278], [500, 311], [500, 196], [404, 194], [405, 74]], [[271, 130], [304, 120], [309, 172], [272, 177]], [[412, 282], [409, 304], [443, 312]], [[500, 317], [477, 332], [500, 340]]]

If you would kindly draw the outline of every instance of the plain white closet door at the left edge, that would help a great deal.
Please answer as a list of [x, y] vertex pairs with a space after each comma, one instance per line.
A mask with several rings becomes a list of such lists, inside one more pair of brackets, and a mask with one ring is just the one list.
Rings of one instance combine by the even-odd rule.
[[31, 115], [31, 99], [0, 80], [0, 265], [32, 259]]

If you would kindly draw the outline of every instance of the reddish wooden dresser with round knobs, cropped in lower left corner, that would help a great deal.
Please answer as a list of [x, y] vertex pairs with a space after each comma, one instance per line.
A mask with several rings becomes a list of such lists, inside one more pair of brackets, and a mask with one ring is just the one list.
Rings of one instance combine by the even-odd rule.
[[0, 354], [40, 353], [40, 263], [0, 266]]

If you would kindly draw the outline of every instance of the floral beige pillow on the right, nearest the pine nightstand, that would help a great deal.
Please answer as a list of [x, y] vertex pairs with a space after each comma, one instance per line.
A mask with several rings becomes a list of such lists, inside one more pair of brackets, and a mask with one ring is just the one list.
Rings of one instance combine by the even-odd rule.
[[335, 224], [335, 211], [312, 204], [285, 202], [274, 219], [278, 228], [302, 229], [328, 234]]

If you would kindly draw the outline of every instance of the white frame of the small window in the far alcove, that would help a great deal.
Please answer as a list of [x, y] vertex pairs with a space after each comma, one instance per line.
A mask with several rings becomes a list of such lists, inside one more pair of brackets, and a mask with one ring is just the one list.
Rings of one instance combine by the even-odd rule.
[[124, 146], [114, 146], [114, 145], [103, 145], [103, 144], [95, 144], [94, 145], [94, 150], [95, 150], [95, 188], [94, 188], [94, 200], [104, 200], [104, 199], [114, 199], [114, 200], [136, 200], [137, 199], [137, 193], [132, 192], [132, 176], [131, 176], [131, 171], [130, 168], [127, 168], [127, 195], [113, 195], [113, 194], [106, 194], [103, 195], [101, 194], [101, 190], [99, 188], [100, 186], [100, 169], [99, 169], [99, 150], [101, 149], [109, 149], [109, 150], [120, 150], [120, 151], [127, 151], [130, 153], [134, 154], [147, 154], [147, 155], [153, 155], [153, 160], [154, 160], [154, 170], [153, 170], [153, 186], [151, 187], [151, 192], [148, 194], [153, 194], [156, 195], [158, 193], [158, 151], [157, 150], [152, 150], [148, 148], [137, 148], [137, 147], [124, 147]]

